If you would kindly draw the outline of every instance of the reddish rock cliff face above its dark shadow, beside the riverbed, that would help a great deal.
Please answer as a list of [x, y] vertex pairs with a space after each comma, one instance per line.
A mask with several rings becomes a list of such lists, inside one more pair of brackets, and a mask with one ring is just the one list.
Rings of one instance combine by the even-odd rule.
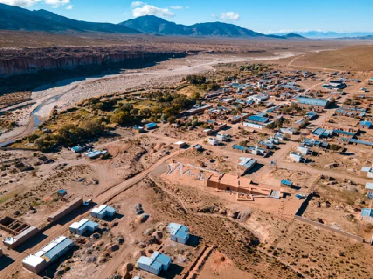
[[1, 52], [0, 77], [38, 73], [40, 70], [73, 70], [87, 65], [113, 65], [119, 62], [145, 62], [180, 56], [180, 53], [162, 51], [126, 51], [121, 49], [42, 48]]

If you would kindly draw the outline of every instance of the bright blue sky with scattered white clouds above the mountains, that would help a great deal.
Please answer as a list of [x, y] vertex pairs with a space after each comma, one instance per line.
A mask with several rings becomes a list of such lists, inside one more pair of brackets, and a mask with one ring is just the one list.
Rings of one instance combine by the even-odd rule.
[[373, 31], [372, 0], [0, 0], [74, 19], [119, 23], [154, 14], [181, 24], [220, 20], [257, 32]]

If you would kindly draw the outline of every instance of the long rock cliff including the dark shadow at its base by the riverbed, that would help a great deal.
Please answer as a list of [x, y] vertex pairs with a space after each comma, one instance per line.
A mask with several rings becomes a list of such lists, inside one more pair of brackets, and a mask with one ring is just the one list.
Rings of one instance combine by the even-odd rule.
[[66, 78], [119, 73], [141, 68], [186, 52], [130, 47], [54, 47], [0, 50], [0, 94], [33, 90]]

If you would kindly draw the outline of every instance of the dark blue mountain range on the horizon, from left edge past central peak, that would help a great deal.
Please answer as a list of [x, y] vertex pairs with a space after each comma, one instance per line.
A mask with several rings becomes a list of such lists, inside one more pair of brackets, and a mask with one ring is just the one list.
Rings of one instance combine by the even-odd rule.
[[206, 36], [229, 38], [272, 38], [301, 39], [290, 33], [271, 35], [254, 32], [247, 28], [223, 22], [206, 22], [181, 25], [153, 15], [129, 19], [119, 24], [97, 23], [69, 19], [47, 10], [27, 10], [18, 6], [0, 4], [0, 29], [44, 32], [110, 32], [110, 33], [150, 33], [165, 36]]

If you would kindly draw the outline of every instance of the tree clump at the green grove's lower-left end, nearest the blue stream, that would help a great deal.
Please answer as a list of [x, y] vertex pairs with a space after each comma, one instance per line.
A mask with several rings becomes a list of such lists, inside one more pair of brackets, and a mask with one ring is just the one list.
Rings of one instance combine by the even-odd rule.
[[27, 140], [34, 142], [35, 146], [44, 152], [53, 147], [76, 145], [85, 138], [92, 138], [102, 134], [104, 129], [102, 119], [91, 119], [82, 122], [79, 126], [65, 124], [54, 134], [46, 134], [42, 137], [32, 134], [27, 137]]

